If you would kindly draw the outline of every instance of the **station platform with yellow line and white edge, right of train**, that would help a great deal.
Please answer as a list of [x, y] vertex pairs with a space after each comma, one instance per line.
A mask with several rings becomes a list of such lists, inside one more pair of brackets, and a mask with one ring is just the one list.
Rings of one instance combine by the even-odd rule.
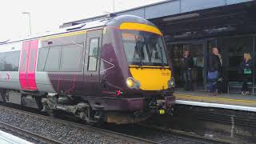
[[177, 104], [256, 112], [255, 95], [218, 94], [210, 96], [206, 92], [182, 90], [175, 91], [174, 95]]

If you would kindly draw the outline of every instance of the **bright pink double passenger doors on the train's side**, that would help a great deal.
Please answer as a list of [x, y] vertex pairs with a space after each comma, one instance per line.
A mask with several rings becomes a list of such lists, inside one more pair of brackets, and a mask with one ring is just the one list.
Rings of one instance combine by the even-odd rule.
[[38, 90], [35, 83], [35, 67], [38, 55], [38, 40], [22, 43], [19, 79], [22, 90]]

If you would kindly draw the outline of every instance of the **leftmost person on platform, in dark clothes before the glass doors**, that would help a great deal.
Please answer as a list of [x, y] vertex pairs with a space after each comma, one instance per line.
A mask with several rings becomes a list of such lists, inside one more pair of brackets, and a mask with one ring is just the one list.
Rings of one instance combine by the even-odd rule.
[[183, 78], [185, 82], [185, 90], [193, 90], [192, 85], [192, 68], [194, 66], [194, 60], [190, 54], [190, 51], [185, 51], [182, 58]]

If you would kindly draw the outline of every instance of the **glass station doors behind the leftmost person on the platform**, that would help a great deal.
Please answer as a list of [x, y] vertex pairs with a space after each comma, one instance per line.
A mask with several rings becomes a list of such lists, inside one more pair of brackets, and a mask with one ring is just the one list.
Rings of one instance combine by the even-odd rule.
[[185, 79], [183, 78], [182, 58], [185, 51], [190, 51], [194, 61], [192, 68], [193, 89], [205, 90], [205, 42], [170, 43], [168, 48], [178, 89], [184, 90]]

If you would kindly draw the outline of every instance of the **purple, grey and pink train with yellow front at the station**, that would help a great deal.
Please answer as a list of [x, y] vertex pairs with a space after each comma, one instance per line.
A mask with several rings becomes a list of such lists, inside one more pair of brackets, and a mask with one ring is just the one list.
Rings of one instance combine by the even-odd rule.
[[131, 16], [0, 43], [2, 102], [85, 122], [141, 122], [174, 105], [162, 33]]

